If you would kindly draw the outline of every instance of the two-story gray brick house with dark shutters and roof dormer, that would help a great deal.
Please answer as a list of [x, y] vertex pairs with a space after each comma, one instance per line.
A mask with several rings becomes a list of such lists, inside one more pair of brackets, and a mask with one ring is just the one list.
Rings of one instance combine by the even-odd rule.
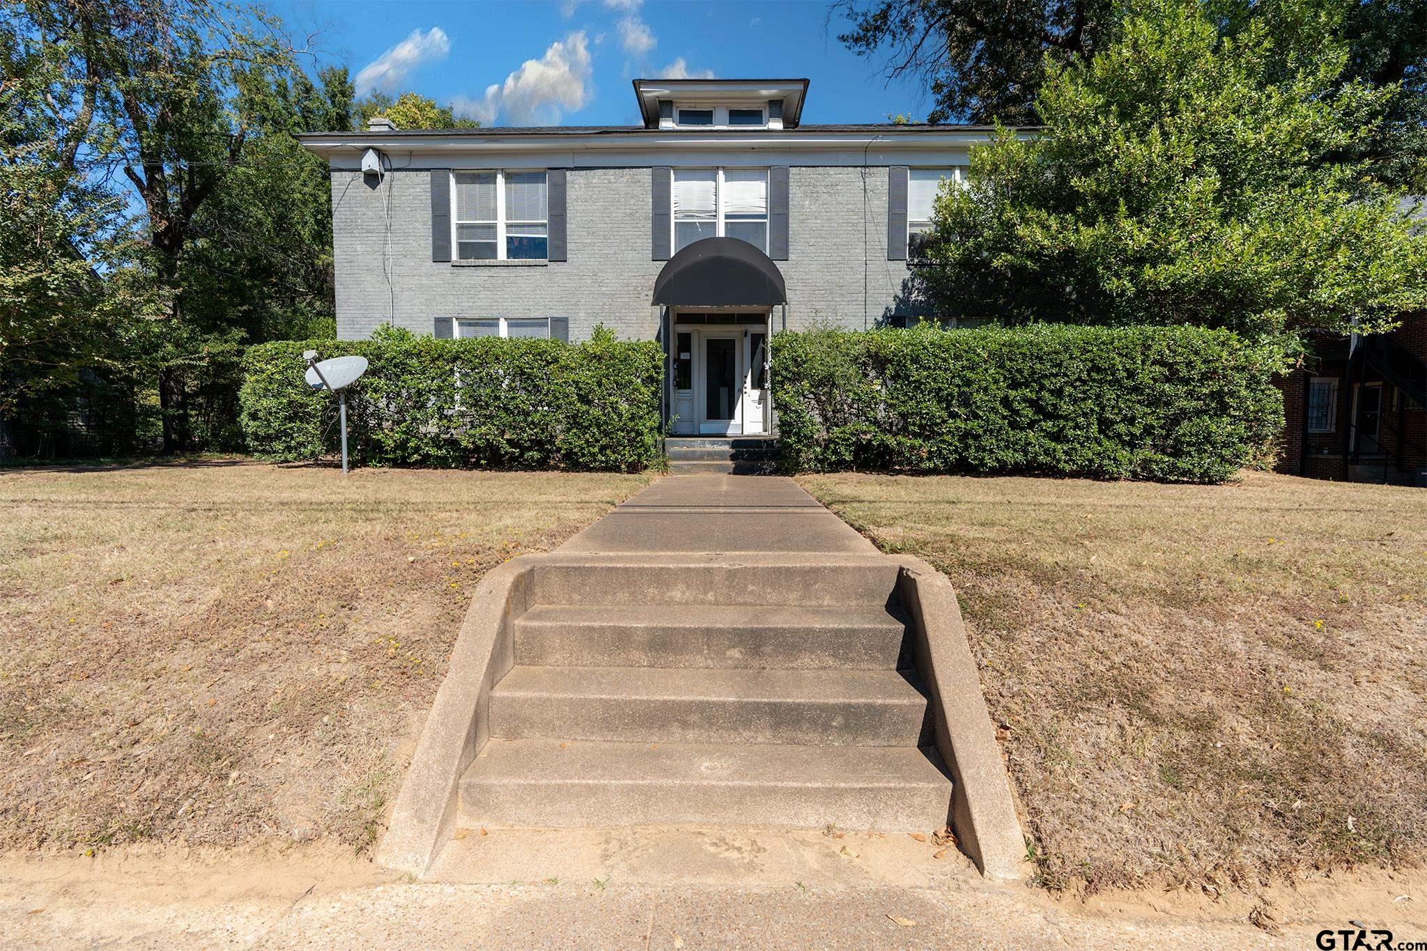
[[314, 133], [337, 335], [585, 339], [668, 354], [681, 433], [773, 426], [768, 336], [906, 311], [908, 240], [983, 125], [806, 125], [808, 80], [635, 80], [642, 125]]

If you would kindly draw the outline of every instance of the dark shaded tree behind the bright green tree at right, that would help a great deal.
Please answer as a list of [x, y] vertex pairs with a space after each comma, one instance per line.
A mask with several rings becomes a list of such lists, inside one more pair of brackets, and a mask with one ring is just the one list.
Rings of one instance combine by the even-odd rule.
[[[1427, 0], [1204, 0], [1223, 36], [1253, 23], [1280, 37], [1290, 60], [1330, 26], [1347, 44], [1340, 81], [1397, 90], [1376, 134], [1359, 143], [1374, 175], [1427, 191]], [[1127, 7], [1119, 0], [835, 0], [850, 29], [838, 38], [880, 58], [888, 77], [919, 80], [930, 123], [1036, 124], [1050, 71], [1104, 50]]]

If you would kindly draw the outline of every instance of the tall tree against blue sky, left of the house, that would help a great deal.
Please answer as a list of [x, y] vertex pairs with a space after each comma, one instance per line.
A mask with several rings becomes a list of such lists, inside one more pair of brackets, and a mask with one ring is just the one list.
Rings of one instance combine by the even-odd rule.
[[[141, 207], [134, 227], [113, 235], [134, 238], [124, 267], [98, 277], [114, 287], [123, 278], [134, 304], [130, 356], [151, 374], [164, 449], [198, 448], [211, 426], [195, 419], [223, 416], [204, 409], [223, 389], [215, 368], [235, 372], [235, 348], [263, 325], [227, 302], [231, 281], [205, 281], [224, 262], [215, 245], [311, 237], [273, 221], [234, 227], [291, 211], [283, 202], [293, 190], [277, 187], [284, 173], [273, 160], [293, 154], [273, 150], [290, 138], [284, 107], [313, 98], [305, 77], [275, 20], [223, 0], [26, 0], [6, 9], [6, 21], [16, 56], [53, 73], [26, 107], [59, 130], [57, 165], [114, 197], [127, 183]], [[350, 120], [350, 94], [337, 111]], [[218, 204], [231, 212], [241, 194], [270, 207], [233, 221], [211, 214]]]

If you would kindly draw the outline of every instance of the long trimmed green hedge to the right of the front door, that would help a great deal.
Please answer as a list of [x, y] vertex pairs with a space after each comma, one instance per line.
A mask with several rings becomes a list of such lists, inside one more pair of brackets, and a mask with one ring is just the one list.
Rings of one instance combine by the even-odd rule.
[[783, 332], [786, 471], [1222, 482], [1283, 429], [1283, 351], [1194, 327]]

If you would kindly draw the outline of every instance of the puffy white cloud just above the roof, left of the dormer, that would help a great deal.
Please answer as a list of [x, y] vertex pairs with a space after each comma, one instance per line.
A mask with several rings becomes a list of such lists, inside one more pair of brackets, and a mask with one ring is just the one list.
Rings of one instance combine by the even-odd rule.
[[585, 106], [589, 87], [589, 40], [585, 31], [557, 40], [538, 60], [525, 60], [504, 83], [485, 87], [485, 96], [457, 96], [451, 108], [489, 125], [504, 115], [515, 125], [558, 123], [567, 111]]

